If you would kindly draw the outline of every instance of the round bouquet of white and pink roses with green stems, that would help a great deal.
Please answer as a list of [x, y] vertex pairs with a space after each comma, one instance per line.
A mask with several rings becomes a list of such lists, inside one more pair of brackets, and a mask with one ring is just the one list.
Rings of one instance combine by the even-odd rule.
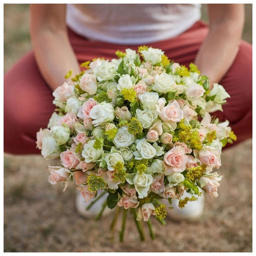
[[[53, 92], [56, 112], [37, 133], [37, 147], [44, 158], [60, 159], [49, 166], [51, 184], [63, 182], [65, 190], [75, 178], [91, 204], [98, 191], [109, 193], [97, 218], [117, 205], [114, 227], [123, 207], [121, 240], [128, 210], [141, 239], [141, 220], [154, 238], [150, 216], [164, 223], [172, 200], [183, 208], [201, 196], [200, 188], [218, 196], [222, 176], [213, 169], [236, 135], [228, 121], [209, 113], [222, 111], [230, 96], [217, 83], [209, 90], [195, 64], [188, 69], [160, 49], [141, 46], [116, 55], [81, 64], [85, 70], [73, 77], [67, 73], [72, 82]], [[185, 190], [191, 197], [181, 199]]]

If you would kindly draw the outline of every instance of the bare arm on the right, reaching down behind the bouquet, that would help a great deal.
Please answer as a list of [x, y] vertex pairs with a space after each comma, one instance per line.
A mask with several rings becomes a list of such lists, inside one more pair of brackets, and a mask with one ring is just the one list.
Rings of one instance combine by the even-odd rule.
[[213, 83], [220, 82], [232, 65], [244, 26], [243, 4], [208, 4], [209, 33], [197, 53], [195, 64]]

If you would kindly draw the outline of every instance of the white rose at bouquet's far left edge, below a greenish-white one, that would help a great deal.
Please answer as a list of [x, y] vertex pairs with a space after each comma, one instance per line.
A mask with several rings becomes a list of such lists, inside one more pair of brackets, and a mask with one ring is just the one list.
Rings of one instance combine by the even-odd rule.
[[45, 159], [54, 159], [60, 156], [61, 151], [57, 142], [51, 136], [44, 136], [42, 138], [41, 154]]

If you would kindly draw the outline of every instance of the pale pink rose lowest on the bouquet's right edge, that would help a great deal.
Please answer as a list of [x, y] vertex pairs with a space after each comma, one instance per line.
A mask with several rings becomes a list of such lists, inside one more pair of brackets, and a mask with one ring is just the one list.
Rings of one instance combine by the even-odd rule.
[[207, 193], [211, 195], [212, 198], [216, 198], [218, 196], [218, 187], [220, 183], [218, 181], [221, 180], [221, 177], [204, 177], [202, 176], [198, 183], [202, 189], [204, 189]]

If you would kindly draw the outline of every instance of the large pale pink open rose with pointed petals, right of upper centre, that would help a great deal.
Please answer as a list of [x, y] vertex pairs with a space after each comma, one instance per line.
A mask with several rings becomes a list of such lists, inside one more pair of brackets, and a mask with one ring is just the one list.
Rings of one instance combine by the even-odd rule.
[[161, 110], [157, 106], [156, 111], [160, 119], [164, 122], [180, 122], [183, 119], [183, 112], [176, 100]]

